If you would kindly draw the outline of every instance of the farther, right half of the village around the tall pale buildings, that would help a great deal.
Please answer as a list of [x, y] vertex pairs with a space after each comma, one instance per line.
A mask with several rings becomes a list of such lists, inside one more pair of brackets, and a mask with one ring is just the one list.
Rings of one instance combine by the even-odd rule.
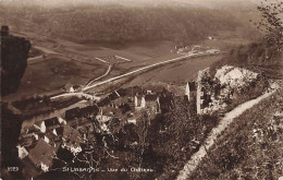
[[171, 104], [169, 92], [130, 87], [113, 92], [98, 103], [100, 112], [97, 118], [109, 120], [119, 119], [122, 123], [136, 124], [140, 111], [155, 117], [162, 112], [167, 104]]

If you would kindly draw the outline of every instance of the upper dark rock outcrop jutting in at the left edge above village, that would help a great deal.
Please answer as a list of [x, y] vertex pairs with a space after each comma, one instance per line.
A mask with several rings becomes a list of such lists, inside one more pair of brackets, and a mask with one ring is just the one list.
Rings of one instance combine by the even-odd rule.
[[1, 33], [1, 96], [17, 91], [29, 49], [29, 40]]

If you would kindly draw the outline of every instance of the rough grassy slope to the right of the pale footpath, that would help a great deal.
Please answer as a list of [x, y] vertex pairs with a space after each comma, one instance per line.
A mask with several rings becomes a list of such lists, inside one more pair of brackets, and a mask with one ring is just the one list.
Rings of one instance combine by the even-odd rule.
[[282, 108], [280, 91], [236, 118], [192, 179], [279, 179]]

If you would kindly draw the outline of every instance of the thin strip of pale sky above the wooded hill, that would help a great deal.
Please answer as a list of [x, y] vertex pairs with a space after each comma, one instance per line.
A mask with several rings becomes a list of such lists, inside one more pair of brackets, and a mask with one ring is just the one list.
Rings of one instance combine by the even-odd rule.
[[157, 5], [190, 5], [190, 7], [235, 7], [248, 5], [260, 0], [0, 0], [7, 5], [39, 5], [45, 8], [77, 7], [77, 5], [104, 5], [122, 4], [130, 7], [157, 7]]

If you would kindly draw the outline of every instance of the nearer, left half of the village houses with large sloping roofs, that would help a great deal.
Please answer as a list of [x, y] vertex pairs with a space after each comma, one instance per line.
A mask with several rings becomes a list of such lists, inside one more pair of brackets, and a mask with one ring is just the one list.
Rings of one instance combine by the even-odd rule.
[[29, 159], [42, 171], [48, 171], [60, 148], [73, 155], [82, 151], [81, 144], [94, 131], [89, 120], [97, 115], [98, 108], [87, 106], [65, 111], [64, 117], [53, 117], [22, 127], [19, 140], [19, 157]]

